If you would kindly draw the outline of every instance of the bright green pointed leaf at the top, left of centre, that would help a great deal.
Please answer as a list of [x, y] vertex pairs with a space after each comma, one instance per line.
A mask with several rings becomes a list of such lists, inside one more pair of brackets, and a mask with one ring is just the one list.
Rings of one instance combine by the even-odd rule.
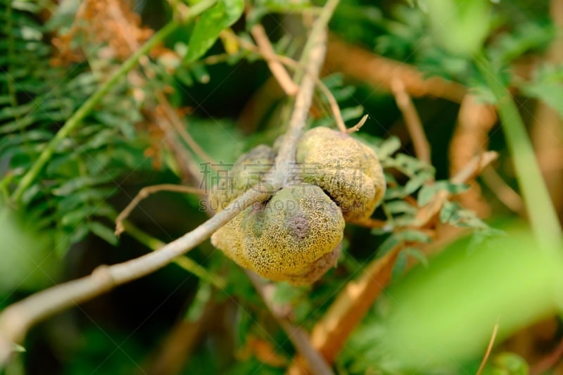
[[196, 22], [189, 39], [186, 62], [191, 63], [203, 56], [217, 41], [221, 31], [241, 17], [243, 9], [243, 0], [221, 0], [205, 11]]

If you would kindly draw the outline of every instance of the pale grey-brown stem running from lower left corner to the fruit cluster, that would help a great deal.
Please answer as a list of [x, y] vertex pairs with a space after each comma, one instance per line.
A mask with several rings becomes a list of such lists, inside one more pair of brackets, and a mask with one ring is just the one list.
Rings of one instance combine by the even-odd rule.
[[87, 277], [53, 286], [6, 307], [0, 314], [0, 365], [8, 360], [13, 343], [20, 342], [33, 324], [164, 267], [208, 239], [244, 208], [268, 196], [255, 189], [246, 191], [217, 215], [158, 251], [117, 265], [97, 267]]

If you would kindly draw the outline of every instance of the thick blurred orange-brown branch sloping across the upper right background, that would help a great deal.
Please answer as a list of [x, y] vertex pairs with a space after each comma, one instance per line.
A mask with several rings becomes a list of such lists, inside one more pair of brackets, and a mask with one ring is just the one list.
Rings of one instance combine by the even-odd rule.
[[386, 91], [391, 91], [391, 82], [398, 78], [414, 97], [431, 95], [460, 103], [467, 91], [461, 84], [439, 77], [425, 78], [422, 72], [410, 65], [377, 56], [332, 35], [325, 68], [329, 72], [343, 72], [354, 80]]

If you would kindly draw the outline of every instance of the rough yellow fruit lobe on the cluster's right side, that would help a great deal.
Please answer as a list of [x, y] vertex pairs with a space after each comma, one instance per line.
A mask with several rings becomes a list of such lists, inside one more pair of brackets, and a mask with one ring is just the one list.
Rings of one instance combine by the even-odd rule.
[[377, 155], [348, 134], [310, 129], [297, 145], [296, 160], [303, 163], [303, 181], [326, 191], [347, 222], [369, 218], [384, 196], [385, 177]]

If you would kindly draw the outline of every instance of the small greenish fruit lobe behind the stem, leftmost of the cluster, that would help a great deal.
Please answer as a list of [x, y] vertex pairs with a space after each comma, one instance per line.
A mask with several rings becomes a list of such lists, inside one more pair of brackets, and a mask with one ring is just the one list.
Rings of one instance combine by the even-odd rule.
[[[209, 194], [210, 207], [220, 212], [244, 191], [262, 182], [274, 164], [275, 154], [270, 146], [260, 144], [243, 153], [226, 177], [219, 179]], [[219, 173], [219, 172], [217, 172]]]

